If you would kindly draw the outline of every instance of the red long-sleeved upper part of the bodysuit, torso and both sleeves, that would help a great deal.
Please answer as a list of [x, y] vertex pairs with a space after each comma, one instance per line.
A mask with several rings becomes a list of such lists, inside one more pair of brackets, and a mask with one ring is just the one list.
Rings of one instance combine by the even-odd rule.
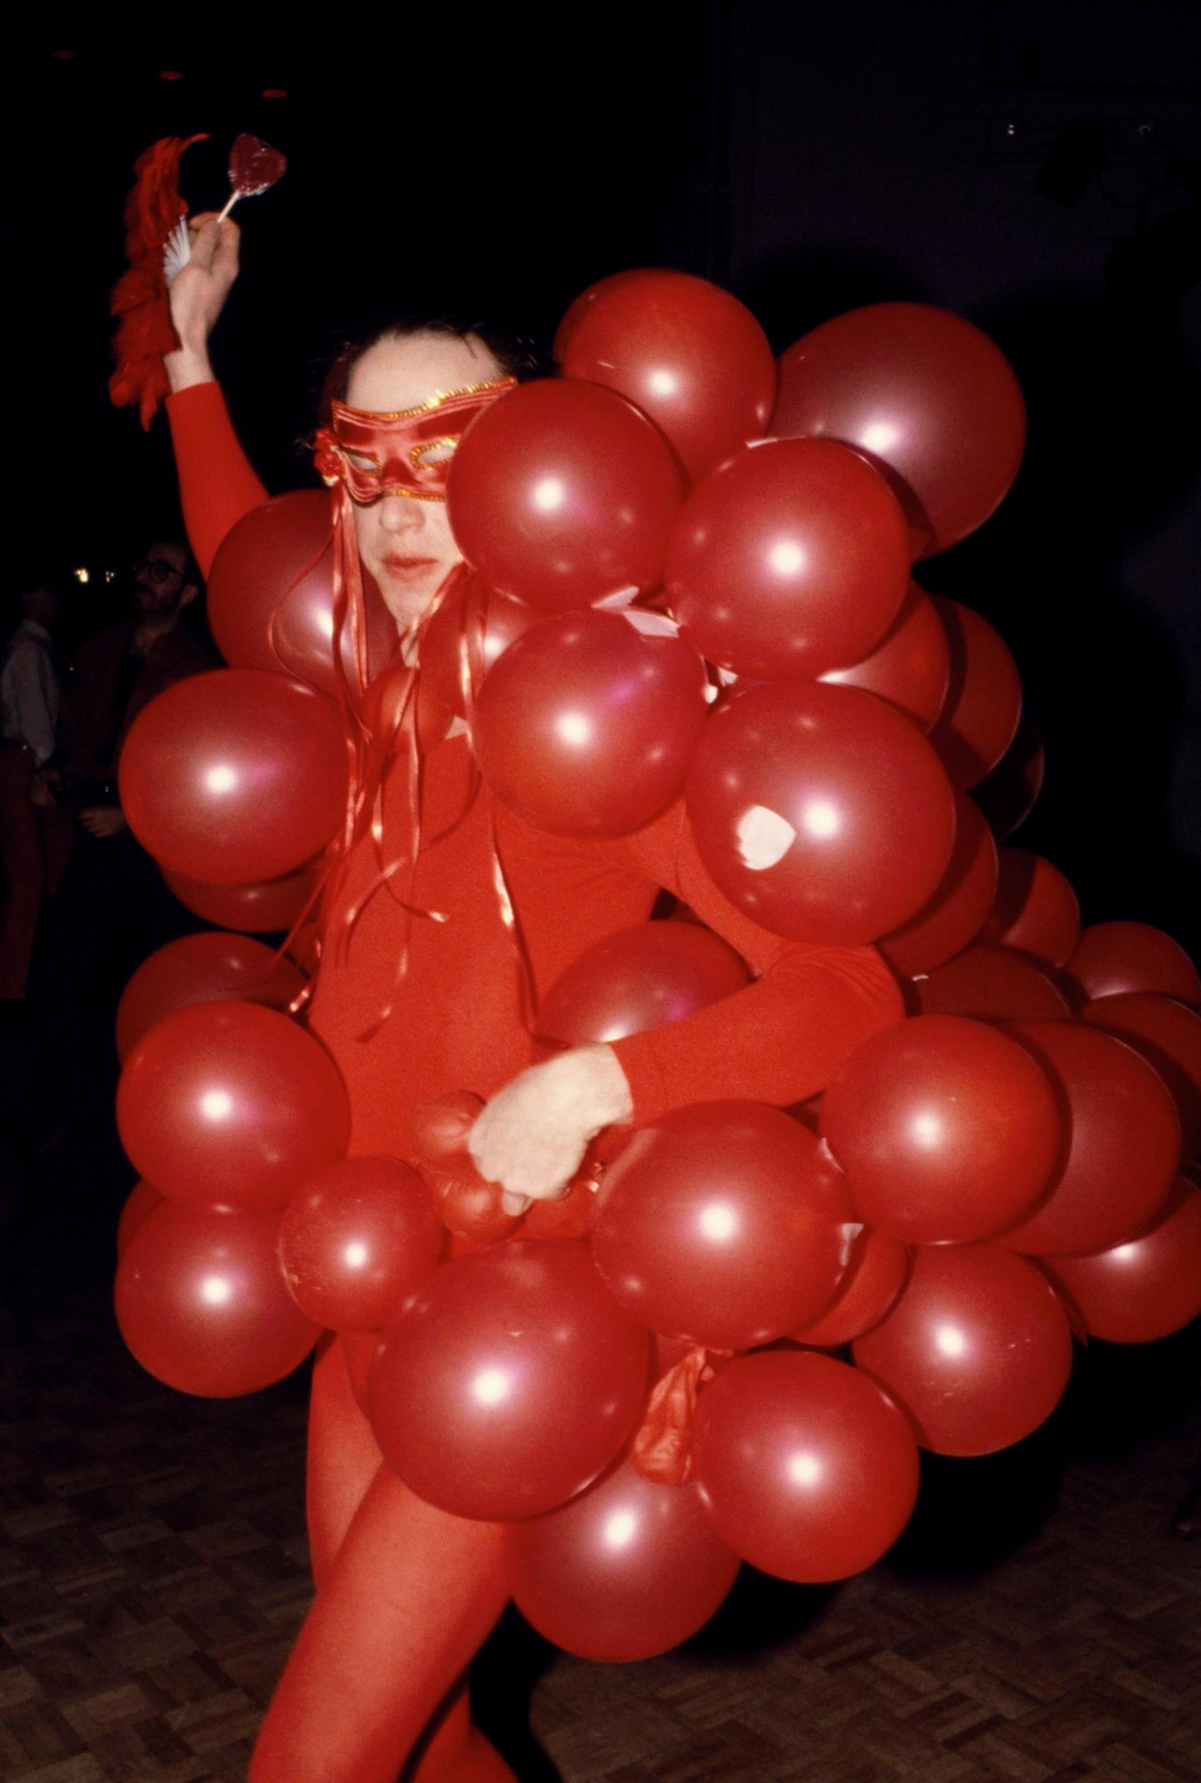
[[[167, 408], [191, 546], [208, 571], [219, 542], [266, 501], [266, 490], [216, 383], [178, 392]], [[447, 1089], [490, 1097], [536, 1057], [520, 1011], [519, 956], [494, 884], [494, 849], [519, 915], [535, 1000], [595, 941], [649, 916], [659, 886], [690, 904], [757, 974], [747, 990], [699, 1015], [613, 1043], [636, 1122], [723, 1097], [780, 1107], [800, 1102], [823, 1089], [862, 1039], [902, 1018], [900, 991], [875, 949], [786, 941], [743, 916], [702, 867], [681, 801], [631, 836], [581, 842], [533, 829], [486, 788], [470, 801], [470, 777], [463, 736], [424, 758], [421, 827], [435, 840], [422, 847], [413, 879], [403, 872], [396, 881], [417, 911], [444, 920], [410, 915], [387, 888], [378, 890], [349, 947], [330, 945], [321, 963], [310, 1025], [346, 1077], [355, 1152], [404, 1152], [422, 1102]], [[390, 817], [385, 802], [385, 859]], [[326, 911], [333, 938], [378, 868], [367, 836]]]

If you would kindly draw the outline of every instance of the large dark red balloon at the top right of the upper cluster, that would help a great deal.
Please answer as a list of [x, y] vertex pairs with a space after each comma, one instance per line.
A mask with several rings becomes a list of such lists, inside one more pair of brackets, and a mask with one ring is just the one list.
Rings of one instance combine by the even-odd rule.
[[982, 526], [1017, 474], [1026, 410], [985, 333], [928, 303], [836, 316], [780, 358], [772, 433], [843, 440], [889, 474], [914, 555]]

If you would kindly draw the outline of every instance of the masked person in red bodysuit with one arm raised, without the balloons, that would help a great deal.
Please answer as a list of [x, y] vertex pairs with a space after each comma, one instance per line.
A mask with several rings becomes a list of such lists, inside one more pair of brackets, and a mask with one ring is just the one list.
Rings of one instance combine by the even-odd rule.
[[[235, 276], [235, 225], [194, 225], [192, 260], [171, 292], [182, 346], [167, 373], [184, 512], [205, 571], [233, 522], [266, 499], [207, 357]], [[442, 501], [445, 462], [429, 464], [417, 448], [431, 437], [431, 412], [433, 431], [454, 440], [508, 387], [506, 367], [474, 333], [388, 332], [347, 366], [323, 467], [351, 492], [358, 553], [404, 660], [460, 562]], [[472, 1155], [519, 1212], [563, 1191], [602, 1127], [718, 1097], [798, 1102], [902, 1016], [873, 949], [786, 941], [736, 911], [700, 867], [679, 804], [633, 836], [597, 843], [535, 831], [486, 788], [472, 801], [470, 786], [467, 742], [451, 733], [424, 756], [421, 833], [433, 840], [412, 879], [413, 906], [445, 920], [413, 920], [396, 899], [374, 897], [349, 949], [328, 949], [321, 966], [310, 1025], [346, 1079], [353, 1154], [404, 1155], [422, 1102], [472, 1089], [488, 1098]], [[385, 833], [388, 818], [401, 822], [385, 802]], [[643, 920], [659, 886], [725, 936], [756, 982], [668, 1027], [531, 1064], [494, 845], [535, 997], [584, 949]], [[337, 924], [376, 872], [367, 838], [326, 920]], [[267, 1712], [251, 1783], [396, 1783], [403, 1767], [421, 1783], [511, 1783], [469, 1722], [463, 1685], [508, 1598], [504, 1526], [437, 1510], [383, 1466], [340, 1341], [314, 1369], [308, 1523], [317, 1596]]]

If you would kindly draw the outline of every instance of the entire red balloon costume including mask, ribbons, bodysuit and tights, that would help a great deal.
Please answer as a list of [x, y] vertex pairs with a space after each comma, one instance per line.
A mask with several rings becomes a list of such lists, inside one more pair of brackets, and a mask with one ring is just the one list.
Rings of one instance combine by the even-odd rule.
[[[1009, 749], [1016, 669], [909, 583], [911, 551], [1012, 478], [1003, 358], [923, 305], [854, 312], [789, 349], [793, 437], [750, 451], [770, 358], [715, 287], [604, 280], [560, 349], [561, 382], [335, 403], [331, 546], [312, 496], [262, 508], [216, 383], [169, 405], [205, 569], [233, 533], [233, 669], [134, 731], [135, 827], [241, 927], [323, 897], [308, 1034], [212, 1000], [207, 959], [164, 961], [119, 1097], [146, 1175], [118, 1277], [135, 1355], [237, 1393], [335, 1332], [317, 1598], [251, 1783], [394, 1783], [406, 1760], [504, 1783], [462, 1680], [511, 1592], [570, 1649], [633, 1658], [695, 1630], [739, 1557], [846, 1576], [903, 1528], [919, 1444], [1019, 1441], [1073, 1328], [1144, 1341], [1196, 1311], [1201, 1198], [1172, 1189], [1197, 1077], [1172, 998], [1196, 981], [1153, 931], [1133, 966], [1128, 938], [1117, 965], [1078, 945], [1050, 863], [998, 867], [952, 785]], [[964, 464], [955, 415], [989, 442]], [[470, 563], [404, 660], [353, 533], [385, 494], [449, 494]], [[264, 540], [285, 594], [241, 601]], [[679, 635], [620, 612], [661, 579]], [[736, 676], [709, 717], [706, 683]], [[239, 704], [242, 756], [217, 747]], [[306, 797], [276, 820], [289, 779]], [[659, 888], [716, 934], [647, 924]], [[1041, 970], [1069, 956], [1083, 1025]], [[1114, 1009], [1130, 1043], [1110, 997], [1140, 1006]], [[634, 1134], [520, 1227], [467, 1132], [563, 1043], [611, 1047]], [[850, 1341], [855, 1366], [813, 1353]]]

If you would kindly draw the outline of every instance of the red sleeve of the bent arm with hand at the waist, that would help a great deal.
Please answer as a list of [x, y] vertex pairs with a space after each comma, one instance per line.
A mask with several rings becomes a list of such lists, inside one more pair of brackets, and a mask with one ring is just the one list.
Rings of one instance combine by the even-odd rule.
[[788, 1107], [816, 1095], [871, 1034], [903, 1016], [900, 988], [873, 947], [788, 941], [743, 916], [713, 884], [682, 801], [615, 843], [681, 897], [759, 974], [745, 991], [613, 1043], [645, 1123], [684, 1102], [747, 1097]]

